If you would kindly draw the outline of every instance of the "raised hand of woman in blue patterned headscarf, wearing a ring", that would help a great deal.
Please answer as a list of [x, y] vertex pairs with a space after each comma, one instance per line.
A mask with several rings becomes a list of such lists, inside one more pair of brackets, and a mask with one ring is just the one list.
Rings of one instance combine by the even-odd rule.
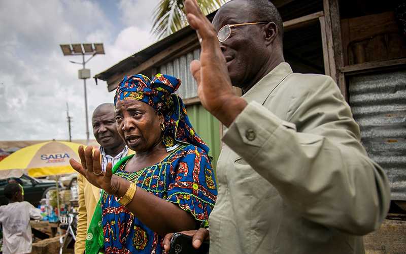
[[98, 149], [93, 153], [93, 147], [88, 146], [86, 149], [83, 149], [83, 146], [79, 146], [78, 152], [81, 163], [71, 158], [69, 163], [72, 168], [82, 174], [94, 186], [104, 189], [108, 194], [117, 195], [120, 187], [122, 187], [121, 185], [125, 184], [125, 180], [113, 175], [112, 164], [108, 163], [106, 172], [103, 172], [101, 170], [100, 151]]

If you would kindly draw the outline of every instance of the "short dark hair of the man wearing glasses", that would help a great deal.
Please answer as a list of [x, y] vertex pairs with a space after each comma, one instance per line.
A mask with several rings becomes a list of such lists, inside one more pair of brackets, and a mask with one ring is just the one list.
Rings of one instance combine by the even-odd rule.
[[[231, 0], [235, 1], [235, 0]], [[275, 5], [269, 0], [245, 0], [252, 8], [252, 12], [258, 20], [250, 22], [268, 21], [275, 22], [279, 30], [280, 39], [283, 39], [283, 21], [281, 14]]]

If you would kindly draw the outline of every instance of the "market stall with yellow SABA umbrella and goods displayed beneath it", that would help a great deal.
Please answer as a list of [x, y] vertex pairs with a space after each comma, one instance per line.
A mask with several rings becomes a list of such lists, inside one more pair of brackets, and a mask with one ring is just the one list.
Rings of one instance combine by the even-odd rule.
[[[50, 223], [58, 223], [60, 215], [77, 205], [75, 186], [60, 190], [60, 175], [75, 173], [69, 160], [79, 161], [78, 148], [81, 144], [63, 141], [48, 141], [24, 147], [0, 162], [0, 179], [20, 178], [23, 174], [32, 177], [55, 176], [55, 189], [41, 200], [43, 216]], [[73, 194], [72, 194], [73, 192]]]

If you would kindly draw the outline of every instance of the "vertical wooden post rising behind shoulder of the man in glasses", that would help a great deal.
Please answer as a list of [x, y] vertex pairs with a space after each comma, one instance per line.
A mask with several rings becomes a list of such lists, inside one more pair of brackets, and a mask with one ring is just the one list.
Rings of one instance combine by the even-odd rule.
[[341, 68], [344, 67], [344, 58], [339, 0], [323, 0], [323, 8], [330, 76], [335, 80], [344, 98], [348, 101], [345, 76], [341, 72]]

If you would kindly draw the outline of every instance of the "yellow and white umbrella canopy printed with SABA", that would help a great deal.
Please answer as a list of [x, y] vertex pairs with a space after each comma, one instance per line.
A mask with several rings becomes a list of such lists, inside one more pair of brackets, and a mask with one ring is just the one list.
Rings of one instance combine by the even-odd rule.
[[24, 147], [0, 161], [0, 179], [20, 177], [23, 173], [32, 177], [74, 173], [69, 160], [80, 160], [79, 146], [81, 144], [72, 142], [48, 141]]

